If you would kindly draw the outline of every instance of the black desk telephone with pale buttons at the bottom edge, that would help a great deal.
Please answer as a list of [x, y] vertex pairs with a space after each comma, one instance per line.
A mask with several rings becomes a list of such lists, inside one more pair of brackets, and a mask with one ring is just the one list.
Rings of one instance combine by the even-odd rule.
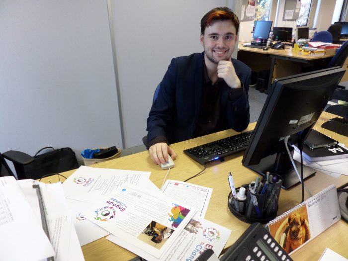
[[[208, 249], [211, 251], [210, 249]], [[212, 251], [211, 251], [212, 252]], [[210, 255], [197, 258], [199, 261], [215, 261]], [[208, 254], [208, 253], [207, 253]], [[208, 259], [209, 257], [210, 259]], [[220, 261], [235, 260], [269, 260], [269, 261], [292, 261], [290, 256], [283, 250], [260, 223], [253, 223], [240, 236], [239, 239], [225, 252]]]

